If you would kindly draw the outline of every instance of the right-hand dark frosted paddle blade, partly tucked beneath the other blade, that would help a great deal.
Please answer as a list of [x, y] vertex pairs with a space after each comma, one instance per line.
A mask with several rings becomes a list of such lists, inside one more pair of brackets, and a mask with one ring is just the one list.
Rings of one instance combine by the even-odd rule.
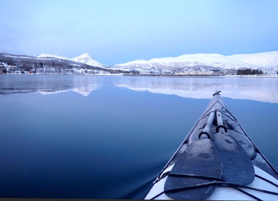
[[230, 135], [216, 133], [211, 137], [222, 160], [222, 179], [226, 182], [247, 185], [254, 181], [252, 161], [242, 146]]

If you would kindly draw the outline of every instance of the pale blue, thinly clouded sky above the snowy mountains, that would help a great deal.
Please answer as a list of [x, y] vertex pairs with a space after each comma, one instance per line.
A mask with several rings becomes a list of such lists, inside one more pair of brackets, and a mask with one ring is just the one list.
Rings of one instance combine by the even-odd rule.
[[278, 50], [278, 1], [0, 0], [0, 52], [106, 65]]

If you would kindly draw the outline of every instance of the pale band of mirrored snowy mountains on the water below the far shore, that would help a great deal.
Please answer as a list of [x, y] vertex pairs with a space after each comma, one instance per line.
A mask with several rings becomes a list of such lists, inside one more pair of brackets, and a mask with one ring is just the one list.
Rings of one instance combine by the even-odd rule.
[[130, 76], [4, 75], [0, 95], [38, 92], [43, 95], [74, 91], [88, 96], [98, 87], [113, 84], [184, 98], [210, 99], [216, 90], [222, 97], [278, 103], [276, 78], [165, 78]]

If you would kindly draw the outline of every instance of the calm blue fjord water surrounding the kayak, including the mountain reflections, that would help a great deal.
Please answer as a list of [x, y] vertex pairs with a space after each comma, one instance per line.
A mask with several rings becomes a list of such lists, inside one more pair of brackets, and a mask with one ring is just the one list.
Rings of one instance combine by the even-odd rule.
[[278, 79], [0, 75], [0, 197], [142, 198], [216, 90], [277, 169]]

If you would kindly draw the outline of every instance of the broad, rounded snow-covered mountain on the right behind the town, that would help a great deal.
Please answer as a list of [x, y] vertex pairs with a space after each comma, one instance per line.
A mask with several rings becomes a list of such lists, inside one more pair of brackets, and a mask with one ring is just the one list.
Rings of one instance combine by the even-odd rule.
[[278, 70], [278, 52], [256, 54], [238, 54], [223, 56], [221, 54], [186, 54], [179, 57], [136, 60], [110, 66], [111, 69], [136, 70], [140, 73], [180, 73], [192, 71], [216, 72], [217, 70], [238, 70], [252, 68], [276, 73]]

